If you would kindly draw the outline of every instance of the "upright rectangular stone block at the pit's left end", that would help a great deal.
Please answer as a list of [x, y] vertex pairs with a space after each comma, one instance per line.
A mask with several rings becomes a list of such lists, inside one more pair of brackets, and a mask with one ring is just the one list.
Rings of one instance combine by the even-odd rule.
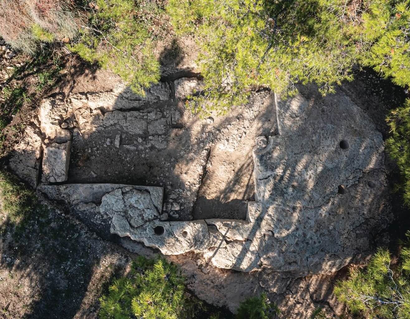
[[43, 182], [65, 182], [68, 178], [71, 141], [43, 146]]

